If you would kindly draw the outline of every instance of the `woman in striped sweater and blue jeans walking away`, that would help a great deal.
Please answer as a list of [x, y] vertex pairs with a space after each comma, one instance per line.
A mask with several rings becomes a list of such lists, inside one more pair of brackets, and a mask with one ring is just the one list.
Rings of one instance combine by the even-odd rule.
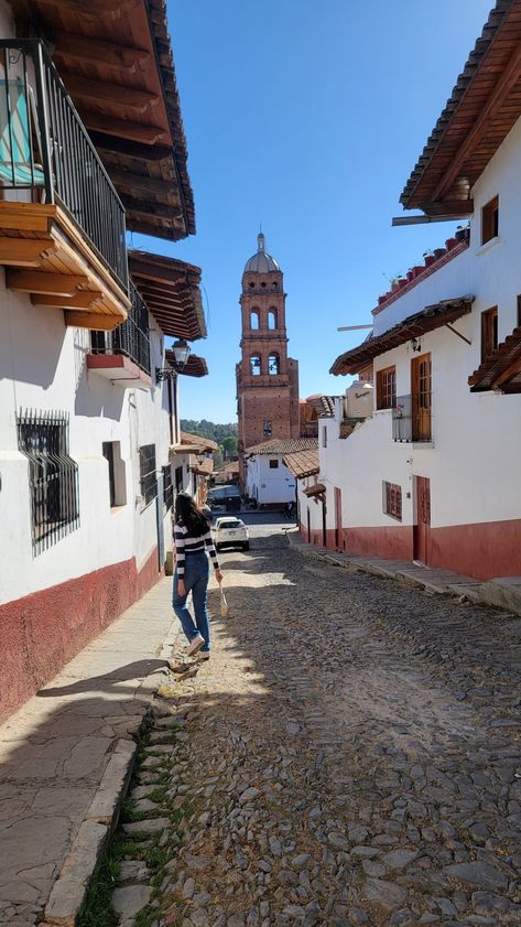
[[[185, 493], [175, 499], [174, 515], [175, 572], [172, 604], [183, 630], [188, 638], [188, 656], [198, 650], [204, 659], [210, 655], [210, 629], [206, 593], [208, 590], [209, 564], [208, 551], [215, 569], [217, 582], [221, 582], [217, 552], [211, 538], [208, 521]], [[186, 607], [186, 599], [192, 592], [195, 623]]]

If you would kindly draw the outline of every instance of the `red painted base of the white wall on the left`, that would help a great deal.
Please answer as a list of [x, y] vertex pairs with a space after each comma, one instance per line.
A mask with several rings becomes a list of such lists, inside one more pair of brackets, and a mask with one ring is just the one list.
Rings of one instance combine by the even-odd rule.
[[0, 606], [0, 721], [159, 580], [158, 550], [138, 572], [113, 563]]

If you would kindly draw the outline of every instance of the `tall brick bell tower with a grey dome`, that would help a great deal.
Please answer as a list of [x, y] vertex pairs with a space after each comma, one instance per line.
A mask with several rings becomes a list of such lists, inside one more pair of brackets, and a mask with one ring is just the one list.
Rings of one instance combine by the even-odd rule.
[[257, 236], [257, 254], [247, 261], [239, 300], [242, 357], [237, 364], [239, 461], [243, 452], [270, 438], [299, 438], [299, 362], [287, 357], [282, 271]]

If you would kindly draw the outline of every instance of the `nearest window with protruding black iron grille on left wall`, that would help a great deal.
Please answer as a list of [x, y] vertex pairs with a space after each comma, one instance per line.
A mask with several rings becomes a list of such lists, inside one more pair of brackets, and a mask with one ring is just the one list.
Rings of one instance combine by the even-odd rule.
[[29, 459], [33, 553], [79, 527], [78, 465], [68, 453], [65, 412], [20, 411], [18, 446]]

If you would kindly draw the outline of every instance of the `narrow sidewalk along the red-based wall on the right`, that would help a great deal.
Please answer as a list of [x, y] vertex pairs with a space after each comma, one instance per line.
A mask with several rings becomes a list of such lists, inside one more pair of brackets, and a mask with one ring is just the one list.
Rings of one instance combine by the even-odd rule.
[[380, 557], [358, 557], [327, 550], [307, 543], [297, 528], [287, 530], [286, 535], [290, 547], [305, 557], [314, 557], [337, 567], [355, 567], [377, 576], [402, 580], [433, 593], [465, 596], [474, 604], [496, 605], [498, 608], [521, 615], [521, 576], [499, 576], [480, 582], [473, 576], [422, 567], [406, 560], [383, 560]]

